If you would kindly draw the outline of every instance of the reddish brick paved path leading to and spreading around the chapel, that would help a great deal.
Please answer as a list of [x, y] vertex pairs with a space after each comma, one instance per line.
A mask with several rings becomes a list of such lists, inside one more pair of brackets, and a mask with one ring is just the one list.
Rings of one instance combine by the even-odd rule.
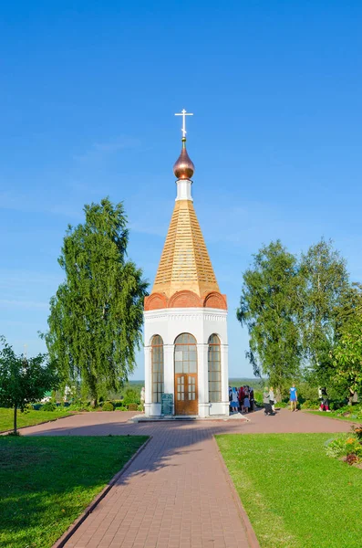
[[26, 435], [139, 434], [150, 443], [67, 542], [67, 548], [248, 548], [214, 434], [337, 432], [350, 425], [324, 416], [256, 412], [251, 422], [128, 424], [128, 413], [88, 413], [23, 430]]

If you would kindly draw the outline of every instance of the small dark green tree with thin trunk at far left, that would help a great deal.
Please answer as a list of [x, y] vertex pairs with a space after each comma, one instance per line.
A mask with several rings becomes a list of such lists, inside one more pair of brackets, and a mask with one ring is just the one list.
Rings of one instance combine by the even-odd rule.
[[17, 410], [41, 399], [48, 390], [59, 385], [56, 366], [47, 354], [34, 358], [16, 356], [13, 348], [0, 337], [0, 406], [14, 408], [14, 434]]

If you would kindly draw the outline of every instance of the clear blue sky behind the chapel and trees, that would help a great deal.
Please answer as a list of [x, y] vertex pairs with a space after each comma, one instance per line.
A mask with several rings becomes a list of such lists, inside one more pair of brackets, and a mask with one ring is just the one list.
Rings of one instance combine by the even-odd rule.
[[0, 333], [16, 351], [44, 350], [62, 238], [84, 204], [124, 201], [129, 256], [153, 282], [182, 108], [231, 376], [251, 374], [235, 311], [263, 243], [297, 253], [331, 237], [362, 281], [361, 16], [358, 1], [2, 5]]

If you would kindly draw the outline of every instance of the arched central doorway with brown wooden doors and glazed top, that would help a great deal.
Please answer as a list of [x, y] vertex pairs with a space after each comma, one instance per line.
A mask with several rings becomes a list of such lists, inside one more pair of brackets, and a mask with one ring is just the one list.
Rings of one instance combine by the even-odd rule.
[[197, 347], [190, 333], [175, 340], [175, 415], [198, 415]]

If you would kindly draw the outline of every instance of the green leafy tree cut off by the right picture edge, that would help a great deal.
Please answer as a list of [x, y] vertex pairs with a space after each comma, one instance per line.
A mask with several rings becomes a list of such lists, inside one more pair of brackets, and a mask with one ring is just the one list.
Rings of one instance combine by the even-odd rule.
[[351, 401], [362, 390], [362, 285], [346, 290], [336, 311], [338, 340], [332, 353], [333, 380], [344, 389]]

